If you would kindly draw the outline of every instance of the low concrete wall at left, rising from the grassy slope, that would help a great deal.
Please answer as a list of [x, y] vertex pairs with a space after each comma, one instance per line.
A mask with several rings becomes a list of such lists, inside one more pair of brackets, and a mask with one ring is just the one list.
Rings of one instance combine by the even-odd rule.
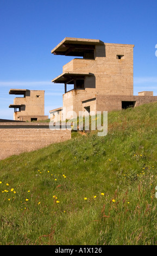
[[0, 160], [71, 139], [71, 130], [50, 130], [49, 123], [0, 123]]

